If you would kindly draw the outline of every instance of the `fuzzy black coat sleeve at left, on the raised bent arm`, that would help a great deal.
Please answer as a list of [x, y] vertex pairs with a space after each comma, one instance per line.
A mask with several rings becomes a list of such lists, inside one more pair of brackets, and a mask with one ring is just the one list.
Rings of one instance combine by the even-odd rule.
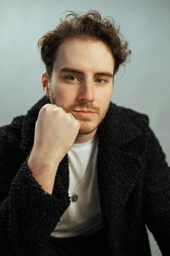
[[0, 254], [39, 256], [70, 200], [59, 180], [57, 196], [45, 193], [19, 162], [14, 136], [0, 129]]

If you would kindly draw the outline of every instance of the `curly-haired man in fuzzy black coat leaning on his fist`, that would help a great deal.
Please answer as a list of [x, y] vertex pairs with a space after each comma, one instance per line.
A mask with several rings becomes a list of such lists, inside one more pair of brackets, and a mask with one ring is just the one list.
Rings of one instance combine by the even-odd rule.
[[[69, 14], [70, 15], [70, 14]], [[170, 255], [170, 168], [149, 117], [110, 102], [130, 55], [97, 11], [38, 41], [42, 97], [0, 132], [1, 255]]]

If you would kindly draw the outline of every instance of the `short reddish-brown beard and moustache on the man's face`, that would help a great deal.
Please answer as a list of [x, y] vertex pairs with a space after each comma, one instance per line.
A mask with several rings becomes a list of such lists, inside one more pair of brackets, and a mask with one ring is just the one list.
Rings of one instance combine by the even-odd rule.
[[[50, 96], [51, 104], [57, 105], [58, 107], [61, 107], [61, 108], [64, 108], [64, 106], [63, 106], [62, 102], [60, 102], [59, 98], [54, 96], [51, 86], [49, 87], [49, 96]], [[67, 113], [71, 112], [71, 110], [75, 109], [76, 107], [82, 108], [82, 109], [89, 108], [89, 109], [93, 109], [94, 111], [96, 111], [98, 119], [95, 122], [95, 124], [92, 124], [92, 122], [93, 122], [92, 118], [88, 118], [88, 117], [78, 117], [77, 118], [76, 117], [81, 123], [78, 134], [87, 135], [89, 133], [92, 133], [102, 123], [102, 121], [105, 118], [105, 115], [108, 111], [109, 105], [110, 105], [110, 101], [108, 102], [106, 109], [100, 110], [99, 108], [90, 107], [90, 105], [88, 103], [81, 102], [77, 106], [75, 104], [71, 104], [67, 107], [67, 109], [65, 109], [65, 108], [64, 109], [66, 110]]]

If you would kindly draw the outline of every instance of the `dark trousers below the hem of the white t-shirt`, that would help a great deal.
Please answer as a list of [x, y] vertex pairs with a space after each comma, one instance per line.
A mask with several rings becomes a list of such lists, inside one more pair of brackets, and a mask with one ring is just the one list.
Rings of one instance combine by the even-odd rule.
[[98, 256], [111, 255], [103, 230], [87, 236], [69, 238], [50, 237], [41, 256]]

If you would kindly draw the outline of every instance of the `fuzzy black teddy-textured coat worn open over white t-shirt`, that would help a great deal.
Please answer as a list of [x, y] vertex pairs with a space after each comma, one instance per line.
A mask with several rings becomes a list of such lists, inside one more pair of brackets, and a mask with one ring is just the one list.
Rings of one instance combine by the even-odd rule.
[[[45, 193], [26, 161], [38, 113], [47, 103], [50, 99], [42, 97], [26, 115], [0, 128], [2, 256], [39, 256], [70, 204], [67, 154], [52, 195]], [[111, 255], [150, 256], [147, 225], [162, 255], [169, 256], [170, 167], [149, 117], [110, 102], [98, 134], [97, 178]]]

